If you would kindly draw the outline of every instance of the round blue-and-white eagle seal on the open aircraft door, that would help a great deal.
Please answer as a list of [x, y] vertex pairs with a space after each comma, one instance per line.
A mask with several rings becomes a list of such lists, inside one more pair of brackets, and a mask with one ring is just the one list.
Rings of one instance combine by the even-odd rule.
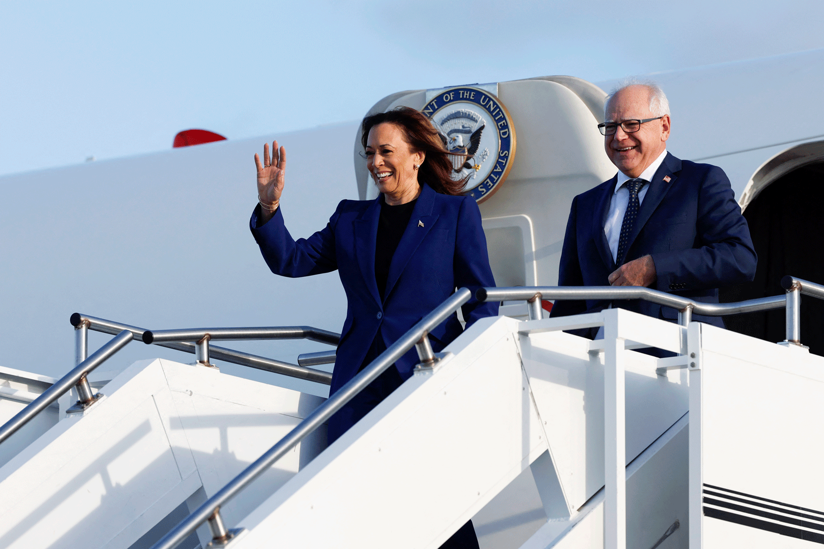
[[478, 202], [492, 196], [515, 156], [515, 128], [503, 104], [487, 91], [461, 86], [440, 92], [423, 113], [453, 153], [452, 179], [468, 176], [464, 193]]

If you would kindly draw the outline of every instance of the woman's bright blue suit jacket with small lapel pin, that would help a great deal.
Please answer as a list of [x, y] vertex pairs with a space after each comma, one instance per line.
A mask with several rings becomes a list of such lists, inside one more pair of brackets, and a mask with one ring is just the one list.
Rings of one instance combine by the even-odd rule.
[[[381, 300], [375, 281], [375, 243], [382, 200], [382, 195], [369, 201], [344, 200], [325, 229], [297, 241], [283, 224], [282, 208], [264, 226], [256, 226], [257, 208], [250, 220], [252, 235], [275, 274], [306, 277], [338, 270], [347, 311], [331, 393], [358, 373], [378, 334], [388, 347], [441, 305], [456, 287], [466, 286], [474, 294], [480, 286], [495, 285], [475, 200], [439, 194], [424, 184], [392, 256]], [[479, 303], [473, 298], [461, 312], [469, 326], [482, 317], [497, 315], [498, 304]], [[433, 349], [440, 351], [461, 332], [461, 323], [452, 314], [430, 333]], [[396, 367], [406, 379], [417, 362], [413, 347], [396, 361]]]

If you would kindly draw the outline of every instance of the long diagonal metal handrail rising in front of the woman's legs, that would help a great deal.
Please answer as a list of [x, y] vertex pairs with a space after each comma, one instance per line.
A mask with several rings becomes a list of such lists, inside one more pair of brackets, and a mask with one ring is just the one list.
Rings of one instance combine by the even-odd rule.
[[[209, 498], [194, 513], [180, 521], [175, 528], [172, 528], [166, 536], [162, 537], [160, 541], [152, 546], [152, 549], [172, 549], [182, 542], [190, 533], [194, 532], [200, 524], [208, 521], [209, 528], [211, 528], [214, 541], [225, 542], [236, 531], [227, 531], [223, 527], [223, 522], [220, 517], [220, 508], [225, 505], [228, 500], [237, 495], [246, 486], [253, 482], [260, 474], [269, 470], [269, 468], [282, 458], [284, 455], [293, 449], [293, 447], [309, 435], [313, 430], [321, 426], [324, 421], [338, 412], [340, 408], [349, 402], [355, 395], [357, 395], [368, 384], [377, 379], [387, 368], [395, 364], [395, 362], [404, 356], [406, 351], [412, 347], [418, 348], [419, 356], [422, 357], [422, 362], [429, 365], [437, 359], [434, 358], [432, 347], [429, 344], [428, 333], [430, 330], [438, 326], [446, 320], [449, 315], [454, 313], [461, 305], [470, 300], [472, 296], [468, 288], [461, 288], [452, 296], [438, 305], [431, 313], [426, 315], [419, 323], [415, 324], [407, 333], [400, 337], [393, 343], [386, 351], [383, 351], [370, 365], [361, 370], [361, 372], [353, 377], [348, 384], [339, 388], [333, 395], [330, 396], [321, 406], [317, 407], [314, 412], [311, 412], [306, 419], [301, 421], [288, 435], [274, 444], [272, 448], [260, 456], [255, 463], [243, 470], [239, 475], [232, 479], [226, 486], [223, 486], [217, 494]], [[427, 360], [428, 359], [428, 360]]]

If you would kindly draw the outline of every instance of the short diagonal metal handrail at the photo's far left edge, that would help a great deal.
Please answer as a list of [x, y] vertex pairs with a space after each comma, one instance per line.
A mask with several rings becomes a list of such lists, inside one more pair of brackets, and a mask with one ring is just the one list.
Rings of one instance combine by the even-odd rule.
[[63, 396], [63, 393], [66, 393], [75, 386], [77, 386], [77, 392], [80, 393], [80, 400], [77, 402], [78, 411], [96, 402], [96, 400], [103, 395], [101, 393], [97, 393], [96, 395], [91, 394], [87, 375], [97, 366], [103, 364], [110, 356], [114, 355], [115, 352], [125, 347], [126, 344], [132, 341], [132, 338], [132, 332], [123, 330], [112, 338], [110, 342], [95, 351], [85, 361], [75, 366], [72, 371], [60, 378], [57, 383], [47, 388], [39, 397], [31, 401], [28, 406], [0, 427], [0, 443], [14, 435], [17, 430], [25, 426], [33, 417], [51, 406], [58, 398]]

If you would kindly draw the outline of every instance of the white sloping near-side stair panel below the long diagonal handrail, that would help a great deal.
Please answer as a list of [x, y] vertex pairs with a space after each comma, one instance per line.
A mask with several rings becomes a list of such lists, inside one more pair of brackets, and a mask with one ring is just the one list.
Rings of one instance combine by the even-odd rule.
[[517, 321], [493, 320], [241, 521], [236, 547], [439, 547], [471, 519], [545, 449]]

